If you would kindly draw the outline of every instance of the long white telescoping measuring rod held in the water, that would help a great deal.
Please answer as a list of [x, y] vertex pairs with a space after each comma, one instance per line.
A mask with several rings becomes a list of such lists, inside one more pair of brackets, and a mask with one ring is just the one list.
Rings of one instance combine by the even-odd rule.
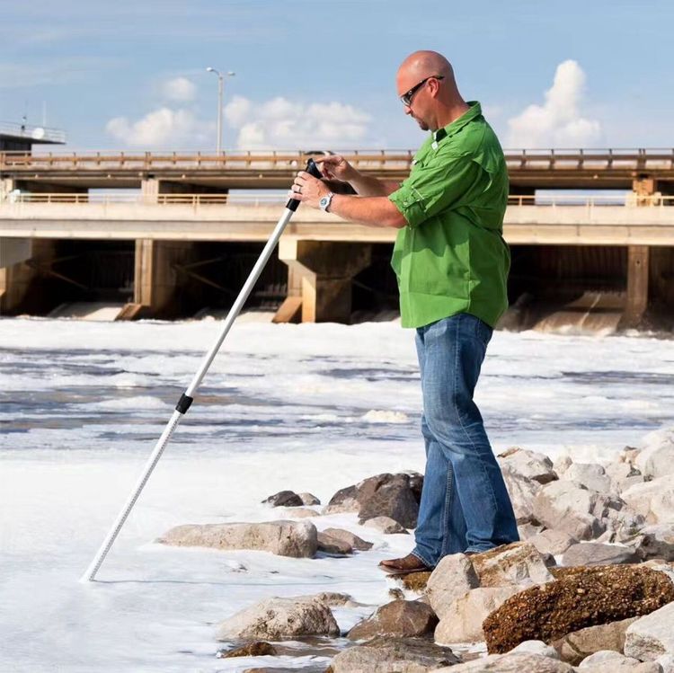
[[[320, 171], [315, 166], [314, 162], [311, 160], [309, 160], [309, 164], [307, 164], [306, 170], [307, 172], [312, 173], [315, 177], [321, 177]], [[155, 445], [155, 449], [152, 452], [152, 455], [147, 460], [143, 473], [140, 475], [140, 478], [138, 479], [134, 490], [131, 492], [131, 495], [129, 496], [129, 500], [127, 500], [126, 503], [124, 504], [124, 507], [121, 509], [120, 514], [117, 516], [115, 522], [112, 524], [108, 536], [106, 536], [106, 538], [103, 540], [101, 548], [96, 553], [95, 557], [93, 558], [93, 561], [86, 569], [86, 572], [84, 572], [84, 575], [82, 576], [80, 581], [83, 582], [93, 581], [95, 579], [96, 573], [100, 570], [102, 566], [102, 562], [105, 560], [105, 557], [108, 555], [108, 552], [110, 552], [111, 547], [115, 542], [115, 539], [120, 534], [121, 528], [124, 526], [125, 521], [129, 517], [131, 509], [133, 509], [133, 506], [136, 504], [136, 500], [140, 495], [140, 491], [142, 491], [143, 488], [145, 487], [147, 480], [150, 478], [150, 474], [152, 474], [156, 464], [159, 462], [159, 458], [161, 458], [162, 453], [164, 452], [164, 448], [168, 444], [168, 441], [171, 438], [171, 436], [173, 435], [173, 430], [178, 427], [178, 423], [180, 423], [182, 416], [184, 416], [187, 410], [190, 408], [190, 405], [193, 401], [194, 393], [196, 392], [197, 388], [199, 388], [201, 380], [208, 371], [208, 367], [210, 367], [211, 363], [213, 362], [213, 359], [215, 359], [217, 351], [220, 349], [222, 342], [225, 341], [225, 337], [229, 332], [229, 330], [231, 329], [232, 325], [234, 324], [236, 317], [241, 312], [241, 309], [245, 304], [245, 300], [251, 294], [251, 291], [253, 290], [253, 287], [257, 282], [257, 279], [260, 278], [262, 270], [267, 264], [267, 261], [269, 261], [271, 252], [274, 251], [274, 248], [279, 243], [279, 238], [283, 234], [283, 230], [286, 228], [286, 225], [288, 225], [290, 217], [293, 216], [293, 213], [297, 209], [298, 205], [299, 201], [295, 199], [290, 199], [288, 201], [285, 212], [279, 218], [279, 222], [277, 223], [276, 228], [271, 234], [269, 241], [264, 246], [262, 254], [260, 255], [258, 261], [255, 262], [255, 266], [253, 267], [253, 270], [248, 276], [248, 279], [245, 281], [244, 287], [241, 288], [238, 297], [236, 297], [234, 306], [232, 306], [232, 308], [229, 309], [229, 313], [227, 314], [222, 330], [220, 331], [220, 334], [217, 337], [217, 341], [213, 344], [213, 347], [206, 354], [205, 358], [201, 363], [201, 366], [199, 367], [199, 371], [194, 375], [191, 384], [181, 395], [181, 398], [175, 407], [175, 411], [173, 412], [173, 416], [171, 417], [171, 420], [164, 428], [162, 436], [158, 439]]]

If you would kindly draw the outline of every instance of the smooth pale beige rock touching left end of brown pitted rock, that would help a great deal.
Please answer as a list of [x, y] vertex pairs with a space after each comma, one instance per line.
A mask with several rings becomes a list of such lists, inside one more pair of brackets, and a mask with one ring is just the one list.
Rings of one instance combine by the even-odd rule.
[[435, 629], [435, 642], [483, 641], [484, 619], [518, 591], [517, 587], [510, 586], [466, 592], [445, 609], [445, 615]]

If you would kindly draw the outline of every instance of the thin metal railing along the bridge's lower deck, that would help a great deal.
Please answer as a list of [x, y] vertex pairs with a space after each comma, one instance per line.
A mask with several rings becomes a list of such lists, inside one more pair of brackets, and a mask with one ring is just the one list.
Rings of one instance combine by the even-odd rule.
[[[0, 203], [25, 204], [67, 204], [67, 205], [104, 205], [135, 204], [139, 206], [266, 206], [288, 201], [288, 193], [237, 193], [237, 194], [138, 194], [137, 192], [114, 191], [111, 193], [28, 193], [9, 192], [0, 194]], [[579, 207], [605, 208], [664, 208], [674, 206], [674, 196], [639, 196], [634, 192], [622, 195], [607, 194], [553, 194], [510, 196], [509, 206], [517, 207]]]

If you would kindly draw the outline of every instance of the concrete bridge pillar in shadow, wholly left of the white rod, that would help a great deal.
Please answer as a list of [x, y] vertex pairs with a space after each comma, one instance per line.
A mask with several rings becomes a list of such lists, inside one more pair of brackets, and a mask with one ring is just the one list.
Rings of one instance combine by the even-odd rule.
[[190, 242], [138, 239], [133, 303], [124, 306], [118, 320], [180, 314], [180, 301], [175, 295], [181, 283], [175, 265], [191, 261], [193, 247]]

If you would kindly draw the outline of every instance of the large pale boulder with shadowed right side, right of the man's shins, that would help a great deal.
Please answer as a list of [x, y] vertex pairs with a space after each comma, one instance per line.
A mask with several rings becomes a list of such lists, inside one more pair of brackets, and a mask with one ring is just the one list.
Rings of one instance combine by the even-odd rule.
[[600, 517], [608, 499], [572, 482], [545, 484], [534, 499], [534, 516], [548, 528], [556, 528], [577, 540], [590, 540], [606, 530]]

